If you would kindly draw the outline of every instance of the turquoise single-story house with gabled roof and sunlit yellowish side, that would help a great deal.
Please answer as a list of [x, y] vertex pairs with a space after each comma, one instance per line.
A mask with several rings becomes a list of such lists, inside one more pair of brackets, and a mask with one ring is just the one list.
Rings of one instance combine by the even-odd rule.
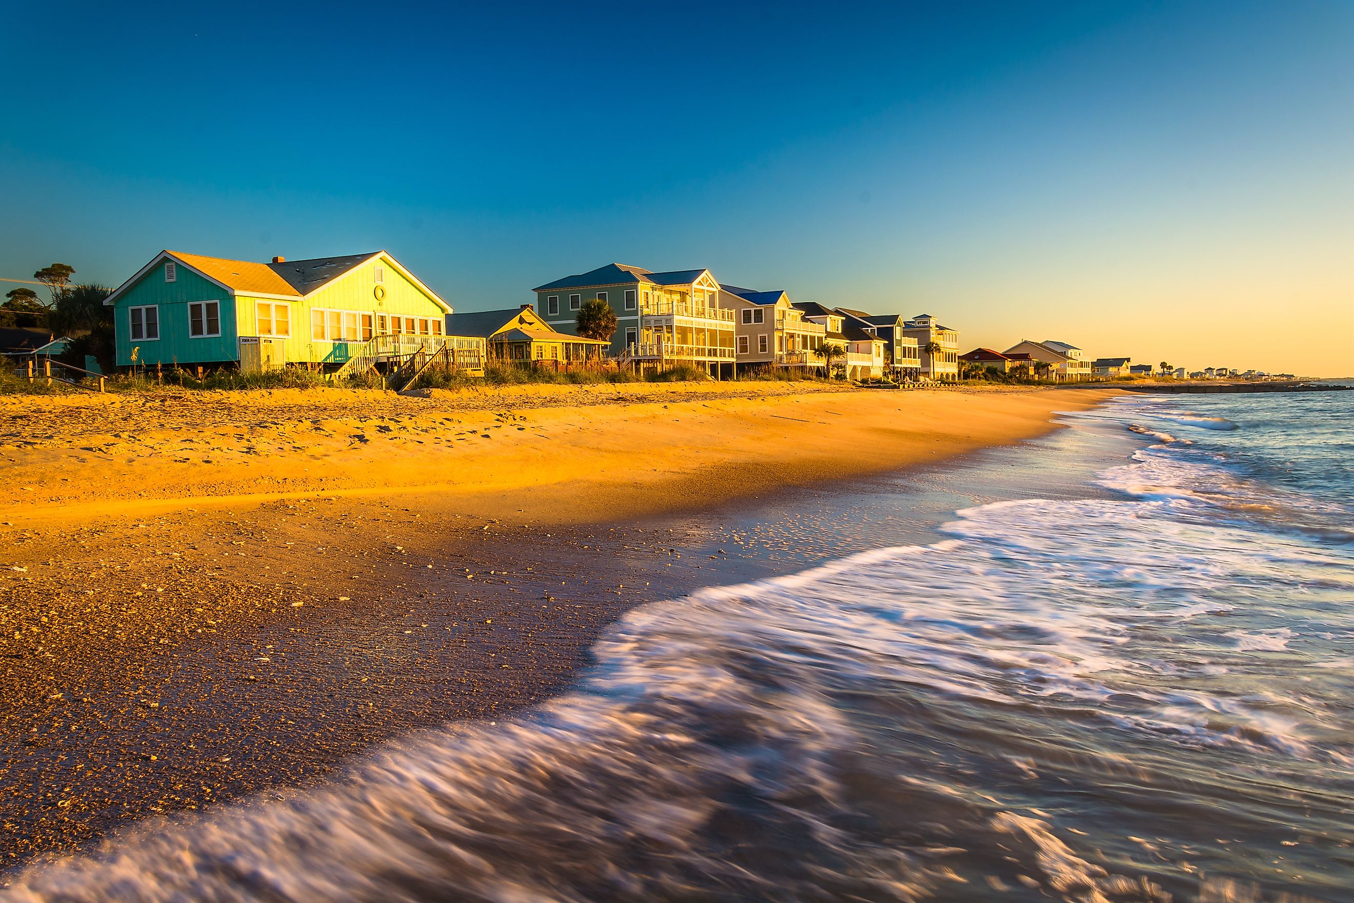
[[103, 302], [116, 360], [337, 368], [379, 336], [443, 336], [451, 306], [385, 250], [272, 263], [161, 250]]

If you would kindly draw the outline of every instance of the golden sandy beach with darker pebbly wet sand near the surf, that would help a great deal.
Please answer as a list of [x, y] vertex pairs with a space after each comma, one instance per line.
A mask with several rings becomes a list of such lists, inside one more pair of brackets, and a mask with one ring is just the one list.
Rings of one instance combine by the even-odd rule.
[[567, 685], [739, 578], [666, 514], [932, 464], [1109, 391], [795, 383], [0, 399], [0, 854], [286, 793]]

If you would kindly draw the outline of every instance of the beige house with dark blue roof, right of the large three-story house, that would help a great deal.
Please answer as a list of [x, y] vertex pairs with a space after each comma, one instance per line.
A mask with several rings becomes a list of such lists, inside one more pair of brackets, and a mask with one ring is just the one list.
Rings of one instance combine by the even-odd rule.
[[745, 367], [818, 368], [826, 328], [804, 320], [784, 291], [720, 286], [720, 306], [734, 311], [735, 360]]

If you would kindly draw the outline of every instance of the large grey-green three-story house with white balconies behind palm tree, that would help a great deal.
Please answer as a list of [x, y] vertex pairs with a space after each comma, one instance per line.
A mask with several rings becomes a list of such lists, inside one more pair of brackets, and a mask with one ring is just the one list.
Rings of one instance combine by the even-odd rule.
[[611, 353], [640, 366], [686, 363], [733, 376], [734, 311], [722, 307], [708, 269], [651, 272], [607, 264], [538, 286], [536, 311], [552, 329], [577, 334], [582, 305], [598, 299], [616, 311]]

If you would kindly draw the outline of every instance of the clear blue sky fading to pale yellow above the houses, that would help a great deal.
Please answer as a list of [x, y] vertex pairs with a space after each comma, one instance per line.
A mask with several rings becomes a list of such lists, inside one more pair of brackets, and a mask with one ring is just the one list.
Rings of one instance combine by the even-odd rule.
[[[1354, 374], [1354, 3], [0, 4], [0, 276], [611, 261]], [[4, 283], [0, 283], [3, 286]]]

